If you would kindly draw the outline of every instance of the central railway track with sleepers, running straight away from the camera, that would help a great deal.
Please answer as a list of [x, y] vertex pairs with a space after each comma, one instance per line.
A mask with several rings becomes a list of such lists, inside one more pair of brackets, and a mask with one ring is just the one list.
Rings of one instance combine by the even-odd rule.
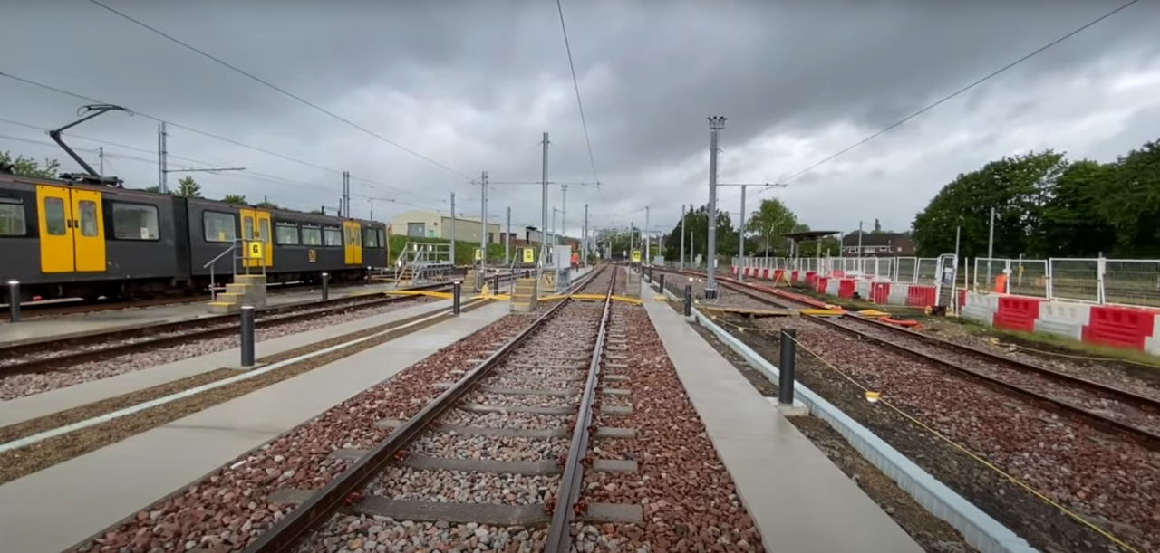
[[[445, 390], [416, 415], [380, 421], [394, 430], [374, 448], [332, 453], [357, 460], [324, 488], [276, 493], [298, 507], [247, 551], [325, 550], [350, 533], [351, 517], [390, 517], [429, 525], [420, 539], [433, 544], [445, 533], [451, 544], [522, 540], [535, 551], [566, 552], [581, 515], [616, 519], [639, 509], [578, 503], [589, 442], [600, 432], [590, 427], [593, 413], [599, 395], [614, 392], [601, 387], [601, 369], [626, 332], [610, 307], [618, 271], [606, 269], [577, 286], [603, 289], [602, 301], [560, 301], [441, 385]], [[383, 539], [379, 527], [341, 540]]]

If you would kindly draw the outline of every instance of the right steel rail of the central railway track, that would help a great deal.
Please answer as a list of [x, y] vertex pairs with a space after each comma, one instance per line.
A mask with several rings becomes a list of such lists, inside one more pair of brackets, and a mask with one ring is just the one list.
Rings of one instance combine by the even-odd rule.
[[[583, 394], [580, 396], [580, 412], [577, 413], [572, 428], [572, 445], [564, 463], [564, 474], [556, 490], [552, 505], [552, 522], [548, 527], [545, 551], [550, 553], [568, 553], [572, 550], [572, 522], [575, 519], [580, 493], [583, 490], [583, 460], [588, 454], [588, 441], [592, 432], [592, 414], [596, 403], [596, 384], [600, 381], [601, 354], [604, 352], [604, 341], [608, 336], [608, 320], [612, 311], [612, 291], [616, 289], [616, 275], [619, 268], [612, 269], [612, 281], [604, 294], [604, 310], [600, 315], [600, 330], [592, 349], [592, 361], [588, 363], [588, 378], [585, 380]], [[629, 278], [632, 278], [630, 275]]]

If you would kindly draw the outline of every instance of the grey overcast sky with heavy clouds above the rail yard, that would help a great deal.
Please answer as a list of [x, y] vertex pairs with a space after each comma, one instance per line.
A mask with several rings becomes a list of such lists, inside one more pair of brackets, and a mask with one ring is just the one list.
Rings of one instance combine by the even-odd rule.
[[[102, 0], [438, 161], [432, 165], [84, 0], [0, 2], [0, 72], [245, 144], [350, 170], [354, 212], [423, 206], [478, 216], [479, 187], [593, 175], [556, 3]], [[1123, 3], [1121, 0], [838, 2], [564, 1], [600, 190], [571, 187], [567, 226], [668, 231], [708, 201], [705, 117], [728, 117], [722, 182], [775, 182]], [[909, 227], [937, 190], [988, 160], [1054, 148], [1102, 161], [1160, 138], [1160, 2], [1144, 0], [838, 160], [770, 190], [814, 228]], [[63, 125], [85, 103], [0, 78], [0, 117]], [[107, 173], [157, 182], [157, 123], [107, 114], [71, 132]], [[66, 134], [67, 136], [67, 134]], [[59, 158], [0, 122], [0, 150]], [[100, 144], [72, 139], [96, 165]], [[335, 206], [340, 176], [171, 129], [172, 155], [252, 174], [197, 174], [204, 194]], [[133, 159], [138, 158], [138, 159]], [[204, 167], [171, 159], [171, 167]], [[171, 175], [174, 185], [180, 175]], [[365, 179], [375, 182], [370, 184]], [[539, 223], [539, 188], [495, 185], [488, 212]], [[739, 191], [719, 206], [739, 211]], [[757, 196], [755, 199], [754, 197]], [[760, 197], [751, 190], [749, 210]], [[390, 203], [387, 199], [396, 199]], [[551, 202], [559, 205], [558, 189]]]

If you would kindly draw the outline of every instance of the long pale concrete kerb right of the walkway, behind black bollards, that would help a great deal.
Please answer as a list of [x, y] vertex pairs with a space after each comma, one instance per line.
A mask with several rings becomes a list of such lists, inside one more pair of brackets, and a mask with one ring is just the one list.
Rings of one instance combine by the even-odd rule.
[[[744, 357], [751, 366], [762, 372], [770, 381], [777, 383], [778, 371], [776, 366], [712, 322], [699, 310], [694, 308], [694, 316], [701, 326], [712, 332], [718, 340], [725, 342], [730, 349]], [[870, 429], [842, 413], [836, 406], [802, 383], [795, 385], [795, 394], [809, 406], [813, 415], [838, 430], [854, 449], [894, 480], [919, 504], [958, 530], [966, 543], [984, 553], [1029, 553], [1036, 551], [1027, 540], [940, 482]]]

